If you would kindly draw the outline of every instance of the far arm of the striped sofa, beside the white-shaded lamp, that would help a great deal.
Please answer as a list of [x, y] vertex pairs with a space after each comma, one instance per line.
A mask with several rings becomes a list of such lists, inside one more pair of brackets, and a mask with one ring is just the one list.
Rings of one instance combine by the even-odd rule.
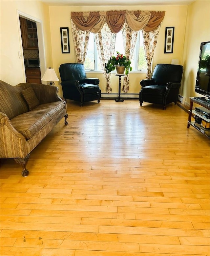
[[34, 83], [20, 83], [17, 86], [20, 86], [23, 90], [32, 87], [40, 104], [62, 100], [58, 96], [58, 87], [56, 86]]

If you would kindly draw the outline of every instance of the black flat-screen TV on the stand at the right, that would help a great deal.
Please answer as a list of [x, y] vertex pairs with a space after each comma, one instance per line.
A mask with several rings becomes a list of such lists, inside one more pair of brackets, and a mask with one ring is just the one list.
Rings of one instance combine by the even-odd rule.
[[200, 44], [195, 91], [210, 100], [210, 41]]

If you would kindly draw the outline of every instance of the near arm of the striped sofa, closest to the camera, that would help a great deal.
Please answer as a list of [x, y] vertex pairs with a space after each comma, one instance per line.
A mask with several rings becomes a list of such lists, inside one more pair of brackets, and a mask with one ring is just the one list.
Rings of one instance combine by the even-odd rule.
[[26, 139], [11, 124], [8, 116], [0, 112], [0, 157], [24, 158], [27, 156]]

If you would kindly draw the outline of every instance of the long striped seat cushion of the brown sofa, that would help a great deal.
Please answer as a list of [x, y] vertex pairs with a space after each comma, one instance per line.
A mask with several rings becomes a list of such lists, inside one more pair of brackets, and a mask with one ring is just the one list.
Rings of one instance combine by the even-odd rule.
[[63, 108], [63, 101], [38, 105], [27, 113], [12, 118], [11, 124], [26, 139], [30, 139], [38, 130], [48, 124]]

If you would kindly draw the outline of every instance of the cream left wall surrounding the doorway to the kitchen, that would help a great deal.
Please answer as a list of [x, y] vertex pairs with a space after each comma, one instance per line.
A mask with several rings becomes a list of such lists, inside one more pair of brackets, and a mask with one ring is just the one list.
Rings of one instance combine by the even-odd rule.
[[[0, 1], [1, 8], [1, 55], [0, 79], [16, 85], [25, 82], [25, 68], [21, 43], [19, 14], [29, 15], [42, 24], [45, 61], [52, 62], [49, 8], [39, 1]], [[18, 52], [21, 52], [21, 58]], [[43, 67], [45, 70], [46, 67]]]

